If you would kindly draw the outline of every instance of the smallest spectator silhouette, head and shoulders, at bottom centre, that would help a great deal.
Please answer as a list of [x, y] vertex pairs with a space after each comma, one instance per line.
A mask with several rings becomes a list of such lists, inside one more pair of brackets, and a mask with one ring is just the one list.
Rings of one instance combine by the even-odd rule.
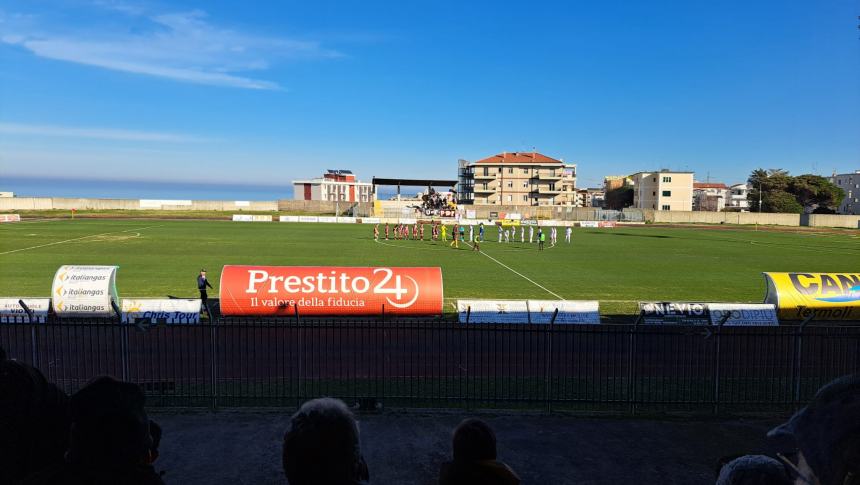
[[520, 478], [496, 461], [496, 434], [480, 419], [466, 419], [454, 430], [454, 461], [442, 465], [439, 485], [517, 485]]

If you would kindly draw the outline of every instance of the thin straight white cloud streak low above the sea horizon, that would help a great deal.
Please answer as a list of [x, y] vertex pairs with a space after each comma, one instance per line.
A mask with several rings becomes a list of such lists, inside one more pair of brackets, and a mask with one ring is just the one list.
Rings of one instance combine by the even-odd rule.
[[194, 143], [208, 141], [204, 138], [175, 133], [117, 130], [112, 128], [81, 128], [54, 125], [29, 125], [22, 123], [0, 123], [0, 134], [92, 138], [97, 140], [132, 142]]

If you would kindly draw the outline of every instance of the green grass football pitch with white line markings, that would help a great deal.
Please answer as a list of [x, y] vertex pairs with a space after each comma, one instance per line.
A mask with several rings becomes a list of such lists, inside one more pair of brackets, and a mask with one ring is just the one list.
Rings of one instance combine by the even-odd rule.
[[489, 227], [479, 254], [465, 244], [375, 242], [366, 224], [25, 221], [0, 225], [0, 296], [47, 297], [64, 264], [120, 266], [125, 297], [196, 297], [200, 268], [217, 290], [225, 264], [440, 266], [446, 311], [458, 298], [564, 298], [629, 314], [643, 300], [759, 302], [763, 271], [860, 266], [860, 233], [851, 230], [625, 226], [575, 228], [571, 244], [563, 228], [558, 237], [538, 251], [527, 242], [500, 244]]

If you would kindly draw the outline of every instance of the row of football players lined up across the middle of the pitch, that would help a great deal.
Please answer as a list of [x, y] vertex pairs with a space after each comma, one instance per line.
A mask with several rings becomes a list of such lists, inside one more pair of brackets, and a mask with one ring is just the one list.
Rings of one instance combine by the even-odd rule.
[[[424, 223], [416, 223], [416, 224], [395, 224], [391, 227], [389, 224], [385, 224], [385, 240], [394, 239], [394, 240], [424, 240]], [[484, 223], [478, 224], [478, 237], [475, 237], [475, 226], [469, 225], [468, 232], [469, 238], [468, 241], [473, 243], [473, 247], [476, 251], [480, 251], [479, 243], [484, 242], [485, 230]], [[526, 242], [526, 226], [520, 227], [520, 242]], [[501, 242], [516, 242], [517, 237], [517, 226], [509, 226], [504, 227], [501, 225], [496, 225], [498, 232], [498, 241]], [[459, 248], [459, 241], [466, 241], [466, 226], [462, 224], [454, 224], [453, 231], [451, 231], [451, 246], [455, 248]], [[549, 228], [549, 243], [551, 246], [555, 246], [558, 244], [558, 228], [550, 227]], [[535, 235], [537, 235], [537, 243], [538, 249], [543, 249], [544, 243], [547, 239], [547, 234], [543, 231], [542, 227], [538, 227], [537, 234], [535, 234], [535, 226], [528, 226], [528, 242], [535, 242]], [[573, 235], [573, 229], [570, 226], [565, 228], [564, 240], [566, 243], [570, 244], [571, 237]], [[373, 239], [379, 240], [379, 224], [376, 224], [373, 227]], [[438, 241], [438, 240], [446, 241], [448, 240], [448, 227], [439, 221], [434, 221], [430, 224], [430, 240]]]

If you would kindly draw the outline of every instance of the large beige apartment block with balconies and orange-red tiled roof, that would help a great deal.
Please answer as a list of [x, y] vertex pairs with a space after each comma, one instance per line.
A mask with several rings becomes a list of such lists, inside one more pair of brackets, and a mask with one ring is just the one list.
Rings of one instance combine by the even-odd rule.
[[576, 165], [536, 152], [505, 152], [461, 162], [460, 203], [576, 204]]

